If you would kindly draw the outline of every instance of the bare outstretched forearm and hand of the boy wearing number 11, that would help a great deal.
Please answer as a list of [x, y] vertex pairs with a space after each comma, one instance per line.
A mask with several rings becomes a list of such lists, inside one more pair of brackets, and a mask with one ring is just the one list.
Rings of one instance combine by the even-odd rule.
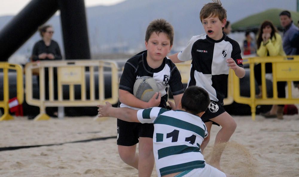
[[127, 107], [112, 107], [111, 103], [106, 101], [105, 105], [97, 105], [98, 117], [115, 117], [127, 122], [139, 122], [137, 111]]

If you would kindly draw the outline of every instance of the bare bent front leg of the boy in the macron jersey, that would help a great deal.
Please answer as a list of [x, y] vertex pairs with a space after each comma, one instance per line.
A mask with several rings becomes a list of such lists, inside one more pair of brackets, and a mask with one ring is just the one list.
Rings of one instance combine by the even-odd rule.
[[227, 142], [231, 138], [232, 134], [236, 130], [237, 123], [234, 118], [227, 112], [224, 112], [210, 120], [216, 122], [222, 127], [216, 135], [215, 144], [210, 160], [210, 165], [221, 170], [220, 158], [223, 150], [225, 149], [225, 142]]

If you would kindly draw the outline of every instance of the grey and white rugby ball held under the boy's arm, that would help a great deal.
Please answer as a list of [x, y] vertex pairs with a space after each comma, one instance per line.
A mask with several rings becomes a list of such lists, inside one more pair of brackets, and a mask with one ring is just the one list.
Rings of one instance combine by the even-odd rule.
[[136, 98], [148, 102], [156, 92], [159, 92], [159, 89], [152, 77], [142, 76], [135, 81], [133, 93]]

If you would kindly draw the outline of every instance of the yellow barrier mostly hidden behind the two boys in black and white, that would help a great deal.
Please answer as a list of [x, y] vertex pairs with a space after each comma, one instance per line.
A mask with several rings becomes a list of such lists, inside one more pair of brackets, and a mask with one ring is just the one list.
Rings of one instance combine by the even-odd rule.
[[[176, 67], [178, 68], [179, 72], [181, 73], [182, 77], [182, 83], [183, 84], [188, 84], [189, 78], [190, 78], [190, 67], [191, 67], [191, 62], [183, 62], [183, 63], [176, 63]], [[233, 75], [234, 71], [230, 70], [228, 74], [228, 93], [227, 97], [224, 98], [223, 102], [224, 105], [229, 105], [234, 102], [234, 97], [233, 97], [233, 92], [234, 92], [234, 87], [233, 87]], [[173, 101], [173, 99], [168, 98], [168, 100]]]

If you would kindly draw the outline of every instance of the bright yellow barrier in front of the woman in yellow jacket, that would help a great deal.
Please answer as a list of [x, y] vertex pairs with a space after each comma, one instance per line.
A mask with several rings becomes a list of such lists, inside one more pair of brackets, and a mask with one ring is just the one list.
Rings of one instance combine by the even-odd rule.
[[[266, 93], [266, 63], [272, 63], [273, 73], [273, 98], [267, 98], [263, 94], [262, 98], [255, 98], [255, 78], [254, 64], [261, 63], [262, 73], [262, 93]], [[239, 78], [234, 76], [234, 100], [237, 103], [248, 104], [251, 107], [251, 116], [255, 120], [257, 105], [271, 104], [298, 104], [299, 98], [292, 98], [292, 81], [299, 80], [299, 56], [287, 57], [255, 57], [248, 58], [243, 61], [243, 64], [249, 64], [250, 68], [250, 97], [240, 96]], [[277, 81], [286, 81], [288, 85], [287, 98], [277, 97]]]

